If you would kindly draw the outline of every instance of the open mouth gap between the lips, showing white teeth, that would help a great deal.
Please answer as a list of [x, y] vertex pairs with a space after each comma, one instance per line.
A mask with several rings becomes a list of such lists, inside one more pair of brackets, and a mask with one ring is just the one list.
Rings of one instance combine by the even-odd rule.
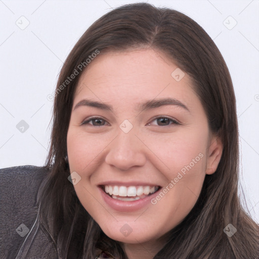
[[101, 185], [99, 186], [107, 195], [113, 199], [122, 201], [135, 201], [146, 198], [157, 192], [160, 186], [118, 186]]

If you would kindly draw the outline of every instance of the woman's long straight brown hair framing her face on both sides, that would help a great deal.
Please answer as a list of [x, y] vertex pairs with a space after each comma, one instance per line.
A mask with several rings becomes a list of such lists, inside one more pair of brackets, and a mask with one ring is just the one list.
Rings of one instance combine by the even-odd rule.
[[[42, 228], [56, 243], [59, 258], [95, 258], [97, 248], [116, 258], [127, 258], [123, 244], [103, 233], [67, 179], [66, 136], [75, 89], [87, 64], [67, 85], [64, 82], [96, 51], [102, 55], [140, 48], [164, 53], [191, 76], [210, 130], [224, 145], [219, 166], [214, 174], [206, 175], [195, 206], [180, 225], [166, 234], [167, 242], [154, 258], [258, 258], [258, 225], [238, 197], [238, 123], [227, 65], [195, 21], [178, 11], [146, 3], [123, 5], [98, 19], [80, 37], [62, 67], [45, 165], [50, 173], [37, 198]], [[232, 237], [223, 231], [228, 224], [237, 229]]]

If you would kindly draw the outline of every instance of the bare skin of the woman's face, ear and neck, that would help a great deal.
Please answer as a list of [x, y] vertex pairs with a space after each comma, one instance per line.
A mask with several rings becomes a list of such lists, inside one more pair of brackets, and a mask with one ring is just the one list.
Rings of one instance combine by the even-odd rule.
[[[185, 73], [176, 81], [171, 76], [176, 68], [153, 49], [101, 53], [82, 73], [74, 96], [67, 151], [70, 171], [81, 177], [74, 185], [76, 194], [104, 233], [124, 243], [130, 259], [153, 258], [163, 247], [163, 235], [193, 208], [205, 175], [213, 174], [222, 155], [222, 142], [209, 130], [191, 78]], [[179, 100], [189, 111], [176, 105], [138, 110], [139, 103], [168, 97]], [[113, 110], [74, 109], [82, 99], [112, 105]], [[95, 121], [81, 124], [93, 115], [102, 118], [101, 125], [93, 124]], [[158, 115], [168, 117], [168, 124], [159, 124], [154, 118]], [[128, 133], [119, 127], [125, 119], [133, 125]], [[200, 153], [203, 157], [163, 198], [137, 211], [112, 209], [97, 187], [105, 180], [148, 180], [165, 188]], [[120, 232], [124, 224], [133, 230], [126, 237]]]

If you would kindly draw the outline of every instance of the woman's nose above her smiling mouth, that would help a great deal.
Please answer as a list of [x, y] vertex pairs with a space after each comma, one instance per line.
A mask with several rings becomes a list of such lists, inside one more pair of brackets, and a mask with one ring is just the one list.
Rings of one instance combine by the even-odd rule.
[[110, 150], [105, 157], [105, 162], [109, 165], [120, 170], [128, 170], [146, 163], [143, 143], [134, 132], [119, 132], [109, 146]]

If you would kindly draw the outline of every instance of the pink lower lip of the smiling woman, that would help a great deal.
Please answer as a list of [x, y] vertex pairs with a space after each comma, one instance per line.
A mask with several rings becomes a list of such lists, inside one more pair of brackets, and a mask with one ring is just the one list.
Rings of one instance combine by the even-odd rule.
[[148, 204], [151, 203], [151, 199], [156, 196], [156, 193], [153, 193], [145, 198], [134, 200], [134, 201], [122, 201], [118, 199], [113, 199], [111, 196], [106, 194], [102, 188], [100, 188], [101, 195], [104, 199], [104, 201], [113, 209], [121, 212], [130, 212], [130, 211], [136, 211], [138, 209], [141, 209]]

